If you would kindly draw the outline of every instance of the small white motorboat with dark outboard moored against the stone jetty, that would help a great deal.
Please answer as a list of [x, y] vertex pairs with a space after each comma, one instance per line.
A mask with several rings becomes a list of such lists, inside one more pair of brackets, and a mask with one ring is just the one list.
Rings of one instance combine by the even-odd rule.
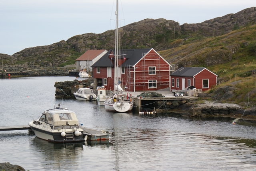
[[76, 93], [73, 93], [77, 100], [92, 101], [96, 100], [96, 94], [90, 88], [80, 88]]

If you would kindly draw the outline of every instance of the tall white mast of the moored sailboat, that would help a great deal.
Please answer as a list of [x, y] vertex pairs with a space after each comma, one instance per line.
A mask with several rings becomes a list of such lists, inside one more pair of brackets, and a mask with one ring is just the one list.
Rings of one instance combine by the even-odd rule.
[[[114, 66], [114, 87], [116, 87], [117, 90], [117, 85], [118, 85], [118, 0], [116, 0], [116, 40], [115, 40], [115, 66]], [[114, 88], [115, 89], [115, 88]]]

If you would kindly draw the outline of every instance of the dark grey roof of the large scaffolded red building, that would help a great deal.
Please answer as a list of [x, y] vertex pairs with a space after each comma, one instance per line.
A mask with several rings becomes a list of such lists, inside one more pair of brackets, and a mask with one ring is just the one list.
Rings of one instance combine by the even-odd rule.
[[[126, 58], [126, 61], [122, 66], [134, 66], [150, 49], [123, 49], [120, 50], [119, 54], [126, 54], [124, 56], [119, 56], [119, 59]], [[113, 67], [111, 60], [108, 58], [112, 50], [109, 50], [104, 56], [102, 56], [97, 62], [95, 62], [92, 67]], [[114, 58], [114, 57], [113, 57]]]

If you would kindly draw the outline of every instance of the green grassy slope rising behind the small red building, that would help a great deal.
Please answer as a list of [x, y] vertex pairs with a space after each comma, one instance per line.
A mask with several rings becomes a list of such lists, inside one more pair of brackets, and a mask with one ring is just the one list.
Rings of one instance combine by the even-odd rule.
[[[248, 45], [244, 45], [243, 42], [248, 42]], [[213, 66], [205, 66], [204, 57], [205, 54], [211, 51], [224, 49], [227, 50], [229, 46], [238, 44], [240, 47], [234, 54], [232, 54], [232, 60], [223, 64], [217, 64]], [[226, 82], [218, 83], [216, 87], [209, 90], [208, 93], [214, 90], [229, 86], [234, 86], [234, 95], [222, 102], [238, 103], [240, 105], [247, 105], [248, 99], [249, 105], [256, 105], [256, 78], [251, 75], [252, 72], [248, 72], [256, 69], [256, 26], [245, 26], [238, 30], [234, 30], [227, 35], [218, 36], [216, 38], [194, 38], [188, 39], [184, 42], [184, 45], [160, 52], [166, 60], [173, 63], [179, 62], [180, 58], [186, 60], [198, 60], [197, 64], [188, 67], [207, 67], [226, 80]], [[177, 64], [176, 63], [176, 64]], [[186, 65], [186, 64], [185, 64]], [[235, 82], [236, 81], [236, 82]]]

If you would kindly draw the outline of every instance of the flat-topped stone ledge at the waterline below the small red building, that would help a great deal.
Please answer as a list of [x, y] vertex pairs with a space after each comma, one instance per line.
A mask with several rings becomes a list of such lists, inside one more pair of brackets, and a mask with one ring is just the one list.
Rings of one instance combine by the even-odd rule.
[[198, 104], [188, 109], [188, 116], [200, 117], [200, 116], [219, 116], [229, 115], [235, 111], [240, 110], [242, 107], [237, 104], [230, 103], [205, 103]]

